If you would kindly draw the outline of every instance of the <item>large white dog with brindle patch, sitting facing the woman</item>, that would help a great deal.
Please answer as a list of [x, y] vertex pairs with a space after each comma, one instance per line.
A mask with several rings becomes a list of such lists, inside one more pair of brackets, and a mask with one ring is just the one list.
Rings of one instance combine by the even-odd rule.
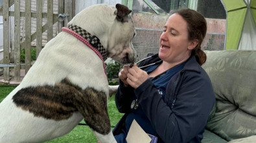
[[[93, 5], [68, 24], [95, 35], [108, 57], [135, 61], [135, 25], [126, 6]], [[49, 41], [23, 81], [0, 104], [0, 142], [45, 142], [84, 119], [101, 143], [116, 142], [107, 111], [104, 62], [68, 32]], [[86, 142], [86, 139], [84, 140]]]

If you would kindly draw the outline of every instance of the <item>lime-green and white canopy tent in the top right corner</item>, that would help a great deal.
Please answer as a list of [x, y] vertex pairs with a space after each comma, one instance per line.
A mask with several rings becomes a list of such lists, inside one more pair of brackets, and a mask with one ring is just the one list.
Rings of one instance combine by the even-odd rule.
[[256, 50], [256, 0], [221, 0], [227, 12], [226, 50]]

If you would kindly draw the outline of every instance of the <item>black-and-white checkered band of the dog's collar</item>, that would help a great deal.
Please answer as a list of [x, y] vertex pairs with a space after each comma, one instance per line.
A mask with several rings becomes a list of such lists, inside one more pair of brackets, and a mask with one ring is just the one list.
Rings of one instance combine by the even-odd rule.
[[67, 28], [69, 28], [73, 32], [78, 33], [78, 35], [86, 39], [89, 42], [89, 44], [91, 44], [91, 46], [93, 46], [100, 52], [100, 55], [102, 55], [103, 60], [106, 61], [106, 59], [108, 58], [107, 51], [100, 43], [100, 39], [98, 37], [96, 37], [95, 35], [91, 35], [91, 33], [87, 32], [86, 30], [76, 25], [70, 24], [69, 26], [67, 26]]

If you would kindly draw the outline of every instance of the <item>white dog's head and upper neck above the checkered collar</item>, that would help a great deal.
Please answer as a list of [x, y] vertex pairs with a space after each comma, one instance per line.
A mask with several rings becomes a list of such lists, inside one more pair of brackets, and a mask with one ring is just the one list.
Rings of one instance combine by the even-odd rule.
[[135, 24], [127, 6], [93, 5], [82, 10], [69, 22], [99, 37], [108, 57], [128, 64], [135, 62], [137, 54], [132, 44]]

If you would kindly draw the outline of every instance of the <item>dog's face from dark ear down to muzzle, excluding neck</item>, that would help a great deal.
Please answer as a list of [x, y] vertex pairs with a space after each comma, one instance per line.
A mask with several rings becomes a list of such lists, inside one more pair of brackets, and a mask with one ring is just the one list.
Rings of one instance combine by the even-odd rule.
[[111, 27], [108, 43], [108, 56], [121, 64], [135, 62], [137, 54], [132, 44], [136, 35], [135, 25], [127, 6], [115, 6], [116, 19]]

